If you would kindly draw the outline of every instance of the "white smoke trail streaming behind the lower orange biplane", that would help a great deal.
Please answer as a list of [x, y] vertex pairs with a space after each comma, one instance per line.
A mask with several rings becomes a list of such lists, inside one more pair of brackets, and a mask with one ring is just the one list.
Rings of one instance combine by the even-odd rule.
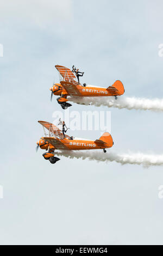
[[163, 165], [163, 154], [162, 155], [151, 155], [142, 153], [129, 153], [129, 154], [118, 154], [114, 152], [103, 153], [98, 150], [90, 151], [62, 151], [55, 152], [55, 155], [69, 157], [70, 159], [88, 159], [96, 160], [98, 162], [112, 162], [115, 161], [121, 164], [139, 164], [143, 167], [149, 166], [161, 166]]

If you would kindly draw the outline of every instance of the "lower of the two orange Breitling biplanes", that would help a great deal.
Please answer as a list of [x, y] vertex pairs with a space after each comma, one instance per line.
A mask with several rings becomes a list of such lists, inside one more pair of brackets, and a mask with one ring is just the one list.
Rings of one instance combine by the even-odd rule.
[[[103, 135], [91, 141], [89, 139], [83, 138], [73, 138], [68, 135], [63, 135], [62, 131], [54, 124], [48, 123], [46, 121], [38, 121], [42, 126], [45, 133], [45, 137], [41, 137], [37, 141], [37, 149], [47, 150], [42, 156], [49, 160], [51, 163], [55, 163], [60, 159], [54, 156], [54, 150], [67, 151], [67, 150], [84, 150], [84, 149], [103, 149], [104, 153], [106, 148], [111, 148], [114, 144], [112, 137], [109, 132], [104, 132]], [[46, 133], [46, 129], [48, 133]]]

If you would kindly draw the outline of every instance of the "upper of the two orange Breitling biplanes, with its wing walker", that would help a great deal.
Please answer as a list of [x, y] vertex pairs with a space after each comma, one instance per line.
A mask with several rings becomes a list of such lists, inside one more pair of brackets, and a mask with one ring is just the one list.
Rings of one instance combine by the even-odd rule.
[[[117, 80], [109, 86], [108, 88], [103, 87], [95, 87], [86, 85], [85, 83], [82, 85], [75, 80], [77, 77], [74, 74], [77, 74], [76, 68], [72, 71], [65, 66], [56, 65], [55, 68], [59, 71], [60, 75], [60, 83], [54, 83], [53, 87], [50, 88], [52, 91], [52, 96], [59, 95], [57, 98], [58, 103], [61, 105], [63, 109], [66, 109], [72, 106], [68, 103], [67, 96], [72, 97], [98, 97], [98, 96], [120, 96], [124, 94], [124, 87], [120, 80]], [[83, 73], [84, 74], [84, 73]]]

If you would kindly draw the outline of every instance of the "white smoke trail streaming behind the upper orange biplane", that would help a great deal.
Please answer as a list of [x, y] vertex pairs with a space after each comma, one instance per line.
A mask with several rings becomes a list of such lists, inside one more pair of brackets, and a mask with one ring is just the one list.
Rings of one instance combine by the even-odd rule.
[[78, 104], [108, 106], [127, 109], [143, 109], [153, 111], [163, 111], [163, 99], [144, 99], [135, 97], [120, 96], [117, 100], [114, 97], [70, 97], [69, 101]]

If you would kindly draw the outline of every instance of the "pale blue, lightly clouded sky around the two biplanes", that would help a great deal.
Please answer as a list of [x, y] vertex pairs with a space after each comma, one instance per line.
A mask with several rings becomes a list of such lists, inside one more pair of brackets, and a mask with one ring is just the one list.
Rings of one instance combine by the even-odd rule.
[[[61, 110], [55, 96], [50, 101], [55, 64], [77, 65], [90, 84], [120, 79], [126, 96], [162, 98], [162, 7], [149, 0], [1, 1], [2, 245], [163, 243], [162, 167], [64, 157], [53, 165], [42, 150], [35, 153], [37, 120], [53, 121]], [[70, 111], [86, 108], [73, 104]], [[162, 154], [161, 113], [90, 109], [111, 111], [110, 150]]]

